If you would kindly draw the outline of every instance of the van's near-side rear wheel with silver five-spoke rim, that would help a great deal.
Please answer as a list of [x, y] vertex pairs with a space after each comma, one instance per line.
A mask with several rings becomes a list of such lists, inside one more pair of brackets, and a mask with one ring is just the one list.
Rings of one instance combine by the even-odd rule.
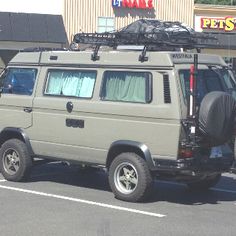
[[118, 155], [109, 168], [110, 187], [120, 200], [144, 200], [150, 194], [152, 182], [146, 162], [135, 153]]

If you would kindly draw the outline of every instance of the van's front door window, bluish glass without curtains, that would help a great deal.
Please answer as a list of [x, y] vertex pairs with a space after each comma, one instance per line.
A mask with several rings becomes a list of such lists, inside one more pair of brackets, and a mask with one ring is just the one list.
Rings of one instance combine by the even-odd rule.
[[31, 95], [36, 75], [36, 69], [8, 68], [1, 77], [2, 93]]

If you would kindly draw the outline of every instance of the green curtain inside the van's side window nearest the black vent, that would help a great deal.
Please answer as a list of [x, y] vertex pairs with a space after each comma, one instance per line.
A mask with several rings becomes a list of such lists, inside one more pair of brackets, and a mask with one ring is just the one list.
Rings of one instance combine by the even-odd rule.
[[140, 73], [107, 73], [105, 99], [146, 102], [146, 78]]

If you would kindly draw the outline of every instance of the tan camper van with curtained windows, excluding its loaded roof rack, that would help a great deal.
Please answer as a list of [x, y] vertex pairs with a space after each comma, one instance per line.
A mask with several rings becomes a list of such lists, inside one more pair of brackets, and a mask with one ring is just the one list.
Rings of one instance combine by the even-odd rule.
[[141, 201], [156, 177], [204, 190], [234, 161], [236, 83], [218, 56], [27, 51], [0, 81], [7, 180], [25, 180], [36, 157], [102, 166], [117, 198]]

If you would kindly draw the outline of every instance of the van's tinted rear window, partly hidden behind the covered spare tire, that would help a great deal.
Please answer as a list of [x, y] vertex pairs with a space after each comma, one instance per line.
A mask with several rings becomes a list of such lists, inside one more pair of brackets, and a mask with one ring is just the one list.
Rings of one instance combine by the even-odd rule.
[[[185, 99], [188, 99], [189, 89], [189, 69], [179, 70], [180, 82]], [[200, 104], [203, 97], [212, 91], [224, 91], [232, 94], [236, 99], [236, 82], [231, 70], [219, 66], [208, 66], [206, 69], [198, 69], [196, 77], [196, 102]]]

